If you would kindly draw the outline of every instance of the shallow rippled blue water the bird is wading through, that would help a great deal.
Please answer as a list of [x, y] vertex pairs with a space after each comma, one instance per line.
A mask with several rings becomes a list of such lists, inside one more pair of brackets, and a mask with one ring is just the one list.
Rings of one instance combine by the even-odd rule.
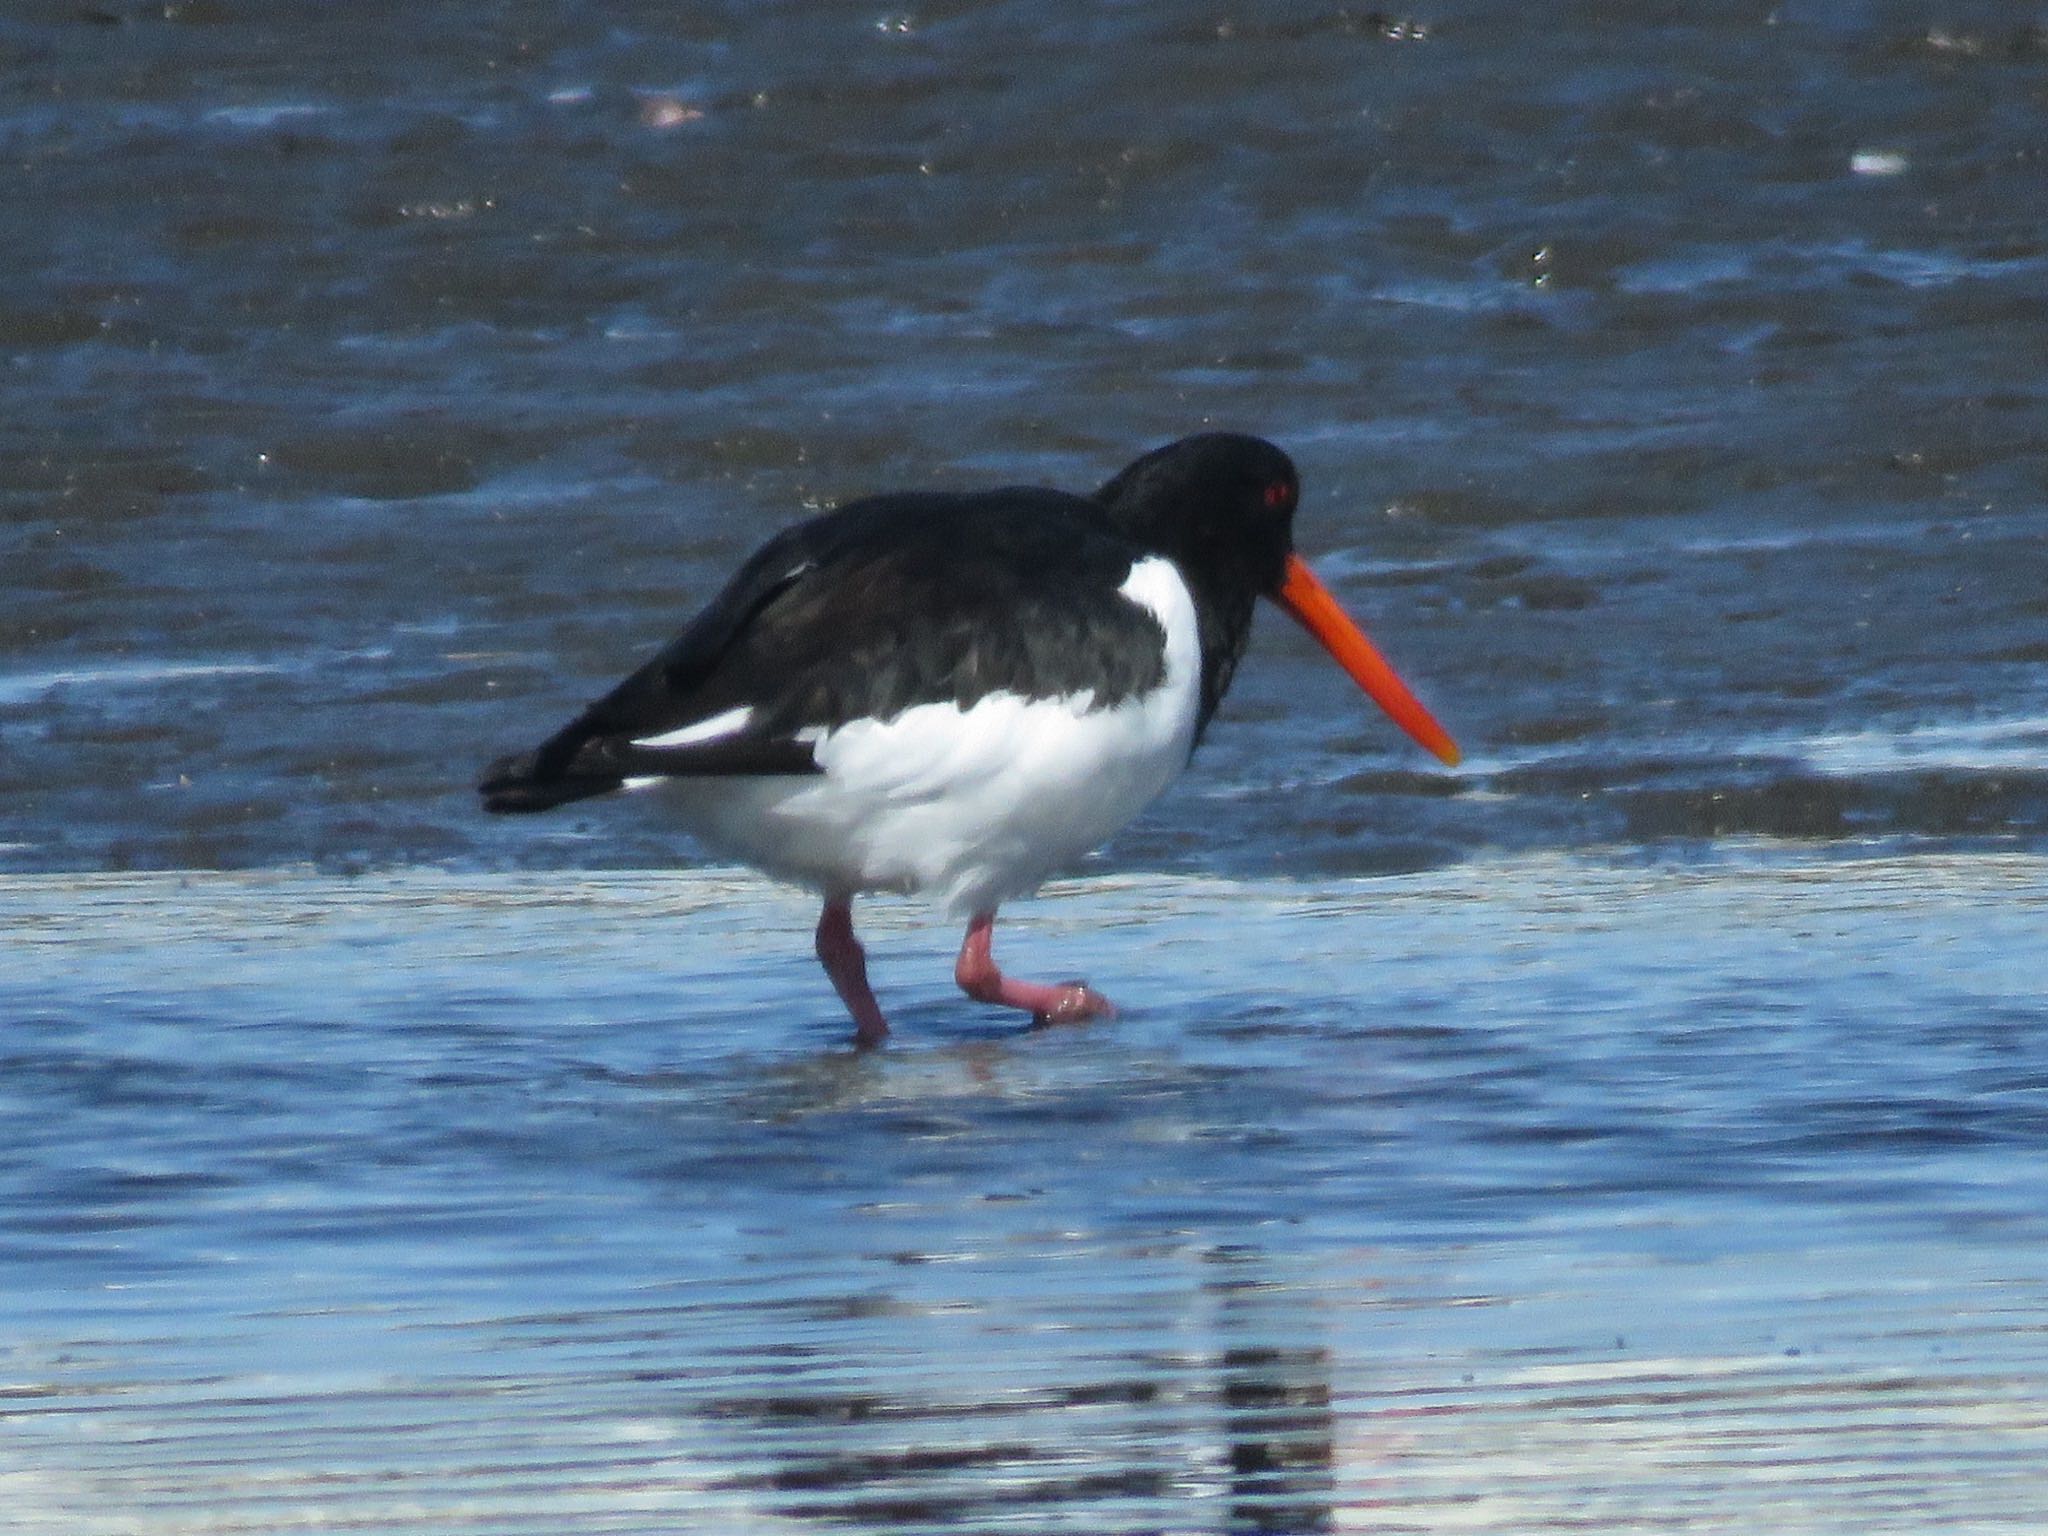
[[29, 1530], [2025, 1530], [2036, 856], [1090, 881], [1114, 1024], [719, 872], [18, 877]]

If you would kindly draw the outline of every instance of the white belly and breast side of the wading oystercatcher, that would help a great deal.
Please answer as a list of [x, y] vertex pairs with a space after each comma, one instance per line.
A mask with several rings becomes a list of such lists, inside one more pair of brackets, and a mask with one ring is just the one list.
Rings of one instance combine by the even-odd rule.
[[913, 891], [993, 909], [1106, 840], [1188, 762], [1200, 690], [1194, 604], [1163, 559], [1124, 596], [1165, 631], [1157, 688], [1110, 707], [1087, 692], [997, 692], [850, 721], [815, 743], [819, 774], [668, 780], [717, 852], [829, 897]]

